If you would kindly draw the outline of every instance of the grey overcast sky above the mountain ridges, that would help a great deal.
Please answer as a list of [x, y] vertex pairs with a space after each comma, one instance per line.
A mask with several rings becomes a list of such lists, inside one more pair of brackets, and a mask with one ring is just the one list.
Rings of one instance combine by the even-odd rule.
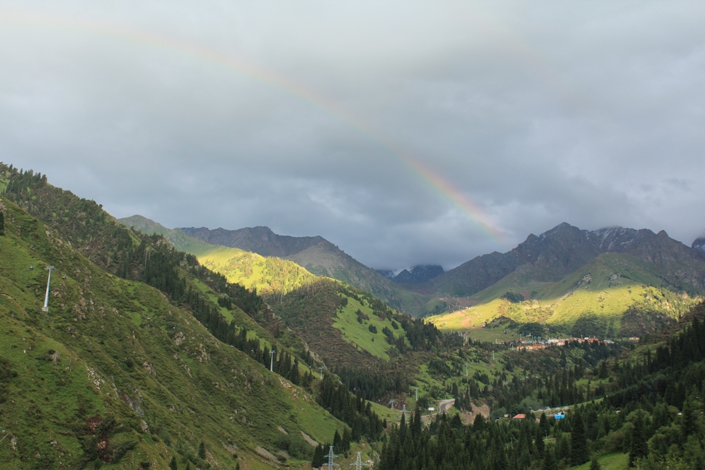
[[[8, 1], [0, 161], [116, 217], [446, 269], [705, 229], [705, 4]], [[419, 171], [419, 168], [425, 168]]]

